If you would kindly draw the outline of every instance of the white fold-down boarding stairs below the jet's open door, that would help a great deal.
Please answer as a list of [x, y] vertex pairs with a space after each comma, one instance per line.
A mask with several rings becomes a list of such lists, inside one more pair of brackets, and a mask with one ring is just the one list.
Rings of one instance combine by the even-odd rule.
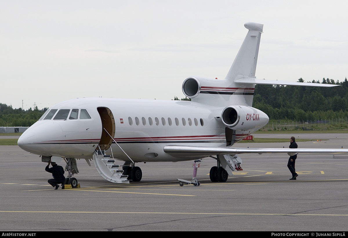
[[128, 175], [122, 175], [123, 170], [118, 169], [120, 166], [115, 164], [111, 155], [106, 155], [105, 150], [100, 149], [99, 146], [93, 153], [93, 160], [99, 174], [106, 180], [112, 183], [129, 183]]

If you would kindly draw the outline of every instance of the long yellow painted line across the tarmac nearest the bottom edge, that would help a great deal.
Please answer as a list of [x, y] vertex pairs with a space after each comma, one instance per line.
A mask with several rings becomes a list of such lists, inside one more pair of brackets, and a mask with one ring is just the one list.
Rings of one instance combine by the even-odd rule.
[[348, 216], [348, 214], [282, 214], [282, 213], [188, 213], [188, 212], [59, 212], [59, 211], [0, 211], [0, 213], [101, 213], [101, 214], [178, 214], [178, 215], [265, 215], [265, 216]]

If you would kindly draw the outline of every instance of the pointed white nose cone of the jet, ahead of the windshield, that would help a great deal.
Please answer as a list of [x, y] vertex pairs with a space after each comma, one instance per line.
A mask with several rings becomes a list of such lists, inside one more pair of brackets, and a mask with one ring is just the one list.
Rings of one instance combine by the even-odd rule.
[[38, 154], [52, 155], [61, 147], [63, 130], [52, 121], [38, 121], [19, 137], [17, 144], [23, 150]]

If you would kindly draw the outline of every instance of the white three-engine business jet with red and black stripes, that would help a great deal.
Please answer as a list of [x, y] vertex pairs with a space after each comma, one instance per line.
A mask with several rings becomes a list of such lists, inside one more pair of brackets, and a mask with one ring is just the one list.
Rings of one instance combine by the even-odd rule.
[[[348, 152], [345, 149], [236, 148], [234, 144], [262, 128], [268, 116], [252, 107], [255, 84], [332, 87], [337, 85], [256, 79], [262, 24], [249, 31], [223, 80], [189, 77], [182, 91], [192, 101], [80, 98], [49, 108], [18, 139], [27, 152], [66, 162], [66, 183], [77, 186], [76, 159], [90, 160], [108, 181], [140, 181], [135, 163], [189, 161], [210, 156], [217, 166], [212, 182], [225, 182], [239, 170], [239, 154]], [[122, 169], [115, 160], [124, 161]], [[197, 185], [197, 184], [196, 184]]]

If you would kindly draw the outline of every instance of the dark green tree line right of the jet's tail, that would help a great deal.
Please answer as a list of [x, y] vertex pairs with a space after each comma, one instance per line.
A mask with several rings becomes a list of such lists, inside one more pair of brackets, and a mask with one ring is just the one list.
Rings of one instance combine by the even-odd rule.
[[[304, 82], [302, 78], [298, 82]], [[336, 87], [255, 86], [253, 107], [262, 110], [271, 120], [329, 120], [347, 117], [348, 80], [335, 82], [323, 78], [307, 83], [337, 84]]]

